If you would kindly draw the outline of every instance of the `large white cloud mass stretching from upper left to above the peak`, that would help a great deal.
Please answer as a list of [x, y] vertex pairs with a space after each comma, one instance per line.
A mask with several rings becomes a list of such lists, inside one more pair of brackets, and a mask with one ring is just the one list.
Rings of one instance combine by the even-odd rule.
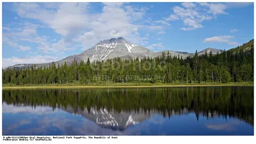
[[57, 8], [56, 10], [49, 10], [49, 3], [45, 7], [32, 3], [20, 3], [16, 4], [16, 7], [20, 17], [40, 20], [63, 36], [65, 41], [74, 40], [83, 43], [84, 47], [93, 46], [100, 40], [120, 36], [139, 44], [140, 30], [156, 31], [162, 28], [161, 25], [134, 24], [145, 15], [148, 10], [145, 6], [138, 8], [124, 3], [103, 4], [102, 12], [94, 14], [88, 13], [88, 3], [56, 4], [52, 6]]

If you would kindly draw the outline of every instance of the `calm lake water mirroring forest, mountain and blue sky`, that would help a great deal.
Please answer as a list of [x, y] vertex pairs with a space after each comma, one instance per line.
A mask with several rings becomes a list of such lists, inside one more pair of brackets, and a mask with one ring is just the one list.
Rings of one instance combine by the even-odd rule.
[[3, 90], [3, 135], [253, 135], [253, 87]]

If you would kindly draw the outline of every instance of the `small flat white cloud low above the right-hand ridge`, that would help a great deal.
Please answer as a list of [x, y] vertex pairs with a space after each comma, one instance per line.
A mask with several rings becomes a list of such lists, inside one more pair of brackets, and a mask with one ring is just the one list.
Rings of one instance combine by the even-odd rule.
[[211, 38], [205, 38], [203, 43], [207, 42], [219, 42], [219, 43], [228, 43], [228, 45], [239, 45], [236, 41], [231, 41], [234, 36], [213, 36]]

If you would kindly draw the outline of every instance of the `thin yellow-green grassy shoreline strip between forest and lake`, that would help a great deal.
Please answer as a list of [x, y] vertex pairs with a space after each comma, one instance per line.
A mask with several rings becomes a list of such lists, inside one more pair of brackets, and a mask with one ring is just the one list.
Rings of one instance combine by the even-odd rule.
[[247, 86], [253, 82], [241, 83], [92, 83], [92, 84], [48, 84], [48, 85], [11, 85], [4, 84], [2, 89], [67, 89], [67, 88], [143, 88], [143, 87], [213, 87], [213, 86]]

